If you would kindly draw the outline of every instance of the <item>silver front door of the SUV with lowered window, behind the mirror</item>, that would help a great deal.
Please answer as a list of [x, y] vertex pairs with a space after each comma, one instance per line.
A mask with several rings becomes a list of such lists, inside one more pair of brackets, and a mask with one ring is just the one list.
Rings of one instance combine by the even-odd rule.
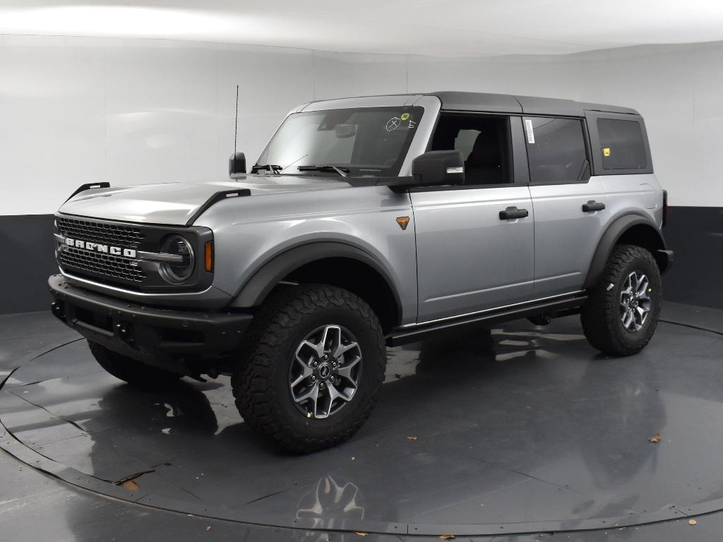
[[410, 193], [419, 322], [528, 301], [532, 295], [534, 212], [521, 119], [442, 113], [432, 150], [451, 149], [465, 156], [465, 184]]

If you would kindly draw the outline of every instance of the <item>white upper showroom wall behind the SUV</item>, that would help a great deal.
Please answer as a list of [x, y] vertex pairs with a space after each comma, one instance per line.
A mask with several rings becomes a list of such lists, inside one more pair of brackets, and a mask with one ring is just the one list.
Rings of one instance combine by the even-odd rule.
[[0, 36], [0, 215], [53, 212], [77, 186], [226, 178], [283, 115], [345, 95], [469, 90], [599, 101], [645, 116], [672, 205], [723, 206], [723, 43], [483, 59], [171, 40]]

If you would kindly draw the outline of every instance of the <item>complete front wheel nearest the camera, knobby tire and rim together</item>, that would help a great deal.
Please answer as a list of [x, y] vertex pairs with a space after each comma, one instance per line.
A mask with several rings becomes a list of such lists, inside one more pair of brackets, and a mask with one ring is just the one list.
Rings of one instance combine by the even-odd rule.
[[314, 452], [364, 424], [385, 365], [384, 335], [369, 305], [342, 288], [300, 285], [262, 307], [231, 384], [252, 429], [284, 449]]

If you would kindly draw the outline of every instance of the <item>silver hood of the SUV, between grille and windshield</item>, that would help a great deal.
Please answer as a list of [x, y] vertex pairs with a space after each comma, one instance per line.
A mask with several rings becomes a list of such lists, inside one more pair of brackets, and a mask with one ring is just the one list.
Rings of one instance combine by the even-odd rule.
[[216, 192], [247, 188], [251, 196], [350, 188], [342, 178], [247, 175], [231, 181], [166, 183], [87, 190], [59, 209], [68, 215], [147, 224], [185, 225]]

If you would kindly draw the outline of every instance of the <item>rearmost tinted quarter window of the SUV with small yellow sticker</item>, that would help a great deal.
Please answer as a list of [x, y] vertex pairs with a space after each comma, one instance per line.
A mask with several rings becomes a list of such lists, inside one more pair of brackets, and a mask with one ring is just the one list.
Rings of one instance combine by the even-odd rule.
[[643, 130], [638, 121], [597, 119], [597, 132], [603, 169], [648, 167]]

